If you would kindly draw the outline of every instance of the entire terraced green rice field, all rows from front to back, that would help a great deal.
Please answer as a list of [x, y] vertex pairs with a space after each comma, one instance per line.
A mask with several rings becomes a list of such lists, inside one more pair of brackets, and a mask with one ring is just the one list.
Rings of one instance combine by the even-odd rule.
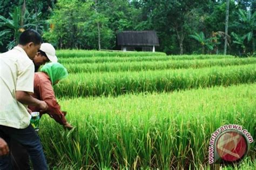
[[58, 52], [70, 74], [55, 93], [75, 128], [42, 117], [51, 169], [255, 169], [255, 142], [241, 164], [208, 164], [220, 126], [256, 139], [255, 58], [99, 52]]

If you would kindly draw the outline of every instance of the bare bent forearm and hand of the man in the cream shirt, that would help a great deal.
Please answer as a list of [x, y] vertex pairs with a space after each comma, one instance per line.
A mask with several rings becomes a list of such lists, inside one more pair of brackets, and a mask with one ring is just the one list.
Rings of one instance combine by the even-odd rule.
[[48, 106], [45, 103], [45, 101], [33, 98], [32, 96], [30, 96], [28, 92], [16, 91], [16, 99], [22, 104], [39, 107], [41, 109], [41, 112], [46, 111], [48, 109]]

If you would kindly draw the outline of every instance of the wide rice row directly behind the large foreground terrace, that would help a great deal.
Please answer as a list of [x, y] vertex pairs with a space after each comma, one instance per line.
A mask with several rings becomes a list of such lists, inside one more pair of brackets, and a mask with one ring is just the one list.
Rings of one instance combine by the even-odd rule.
[[256, 81], [256, 64], [203, 69], [70, 74], [55, 86], [58, 97], [118, 96], [230, 86]]

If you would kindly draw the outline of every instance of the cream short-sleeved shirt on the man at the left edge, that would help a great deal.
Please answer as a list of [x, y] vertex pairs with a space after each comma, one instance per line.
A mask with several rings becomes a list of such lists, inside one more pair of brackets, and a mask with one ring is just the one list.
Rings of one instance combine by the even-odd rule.
[[26, 128], [28, 106], [16, 100], [16, 91], [33, 93], [35, 66], [19, 46], [0, 54], [0, 125]]

